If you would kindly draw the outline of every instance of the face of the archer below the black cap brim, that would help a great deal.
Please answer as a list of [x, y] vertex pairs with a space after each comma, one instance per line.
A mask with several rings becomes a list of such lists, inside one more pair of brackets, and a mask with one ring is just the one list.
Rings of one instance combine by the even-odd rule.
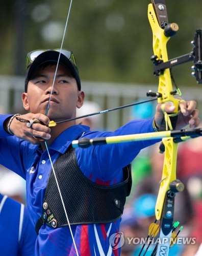
[[[56, 65], [36, 69], [28, 83], [28, 92], [22, 94], [24, 109], [46, 114], [52, 91]], [[75, 117], [76, 108], [83, 105], [84, 92], [78, 91], [77, 82], [63, 65], [58, 66], [48, 117], [60, 121]]]

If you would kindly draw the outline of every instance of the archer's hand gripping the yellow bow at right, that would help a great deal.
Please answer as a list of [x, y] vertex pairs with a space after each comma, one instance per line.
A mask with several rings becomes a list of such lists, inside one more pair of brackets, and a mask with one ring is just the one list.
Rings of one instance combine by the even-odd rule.
[[[164, 118], [164, 111], [166, 113], [173, 113], [175, 110], [175, 106], [173, 106], [171, 103], [166, 104], [158, 104], [156, 108], [156, 115], [155, 115], [155, 123], [157, 128], [160, 128], [161, 123]], [[199, 119], [199, 111], [196, 109], [196, 102], [193, 100], [190, 101], [184, 101], [181, 100], [179, 104], [179, 109], [181, 113], [178, 115], [178, 121], [176, 123], [176, 130], [182, 129], [184, 126], [189, 124], [190, 128], [195, 128], [199, 125], [200, 119]]]

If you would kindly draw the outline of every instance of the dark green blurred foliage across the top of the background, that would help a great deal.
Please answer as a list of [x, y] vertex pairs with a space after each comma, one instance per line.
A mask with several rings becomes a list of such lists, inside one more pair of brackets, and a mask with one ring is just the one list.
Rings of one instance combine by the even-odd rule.
[[[153, 76], [152, 30], [147, 19], [150, 1], [77, 0], [72, 7], [63, 48], [77, 57], [82, 80], [128, 83], [158, 83]], [[41, 22], [33, 19], [33, 10], [41, 4], [50, 15]], [[50, 22], [59, 22], [64, 30], [70, 0], [7, 0], [0, 10], [0, 74], [24, 74], [27, 52], [60, 48], [62, 35], [45, 40], [42, 30]], [[192, 50], [195, 29], [202, 28], [201, 0], [166, 1], [169, 22], [179, 32], [168, 42], [173, 58]], [[43, 13], [39, 12], [39, 17]], [[51, 33], [55, 34], [55, 31]], [[50, 34], [51, 34], [50, 33]], [[173, 75], [183, 86], [196, 86], [191, 77], [191, 62], [175, 67]]]

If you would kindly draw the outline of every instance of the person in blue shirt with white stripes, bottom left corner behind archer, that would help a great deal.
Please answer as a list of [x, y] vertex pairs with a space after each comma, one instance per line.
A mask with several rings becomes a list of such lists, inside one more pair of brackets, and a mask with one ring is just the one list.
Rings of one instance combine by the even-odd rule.
[[0, 255], [34, 256], [36, 232], [23, 204], [0, 194]]

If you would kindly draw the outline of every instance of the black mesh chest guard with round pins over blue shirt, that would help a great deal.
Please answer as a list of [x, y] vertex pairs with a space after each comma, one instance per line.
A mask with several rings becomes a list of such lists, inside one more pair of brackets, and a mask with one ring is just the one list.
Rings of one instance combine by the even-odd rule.
[[[81, 172], [75, 149], [69, 147], [57, 159], [54, 169], [70, 224], [108, 223], [121, 217], [131, 191], [131, 164], [123, 168], [123, 182], [97, 185]], [[42, 216], [36, 223], [37, 233], [44, 222], [54, 228], [68, 225], [53, 170], [45, 190]]]

